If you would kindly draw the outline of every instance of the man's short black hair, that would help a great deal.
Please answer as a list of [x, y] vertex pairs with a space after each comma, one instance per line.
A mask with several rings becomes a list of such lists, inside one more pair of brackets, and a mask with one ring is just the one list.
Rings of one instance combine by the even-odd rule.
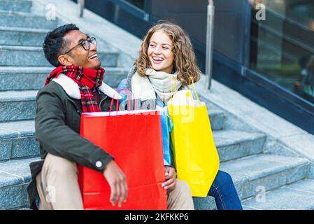
[[53, 66], [61, 66], [58, 57], [61, 54], [66, 41], [64, 41], [64, 35], [69, 33], [71, 30], [80, 30], [74, 24], [63, 25], [57, 27], [56, 29], [49, 31], [47, 36], [45, 36], [45, 42], [43, 43], [43, 52], [45, 53], [45, 58]]

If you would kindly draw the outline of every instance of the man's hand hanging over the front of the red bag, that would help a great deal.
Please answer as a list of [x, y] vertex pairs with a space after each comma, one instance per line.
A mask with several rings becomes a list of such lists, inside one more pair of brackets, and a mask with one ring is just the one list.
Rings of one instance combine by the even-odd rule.
[[104, 176], [109, 183], [111, 194], [110, 202], [118, 207], [122, 206], [123, 202], [127, 201], [127, 178], [122, 172], [122, 170], [117, 166], [115, 161], [110, 161], [106, 165], [104, 170]]

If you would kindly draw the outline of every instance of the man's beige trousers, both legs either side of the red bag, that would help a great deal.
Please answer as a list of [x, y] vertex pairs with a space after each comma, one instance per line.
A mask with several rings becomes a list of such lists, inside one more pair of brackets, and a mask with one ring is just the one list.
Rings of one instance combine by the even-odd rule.
[[[82, 210], [83, 200], [78, 186], [75, 162], [48, 153], [41, 173], [36, 176], [40, 197], [39, 210]], [[177, 179], [176, 188], [167, 193], [169, 210], [192, 210], [190, 187]]]

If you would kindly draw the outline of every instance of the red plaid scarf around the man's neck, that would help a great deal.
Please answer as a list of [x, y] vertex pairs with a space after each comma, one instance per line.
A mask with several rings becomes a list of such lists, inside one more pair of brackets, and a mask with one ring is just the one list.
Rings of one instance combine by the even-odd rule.
[[54, 69], [45, 80], [45, 85], [50, 83], [52, 78], [57, 78], [60, 73], [71, 78], [78, 83], [80, 88], [80, 100], [83, 107], [83, 112], [100, 112], [99, 106], [94, 99], [92, 89], [99, 87], [104, 79], [105, 69], [87, 69], [81, 66], [59, 66]]

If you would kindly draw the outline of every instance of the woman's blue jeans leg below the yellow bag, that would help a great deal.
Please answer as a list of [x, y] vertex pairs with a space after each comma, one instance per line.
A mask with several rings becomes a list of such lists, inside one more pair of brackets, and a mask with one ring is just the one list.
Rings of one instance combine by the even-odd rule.
[[218, 210], [243, 210], [230, 174], [218, 171], [208, 196], [215, 197]]

